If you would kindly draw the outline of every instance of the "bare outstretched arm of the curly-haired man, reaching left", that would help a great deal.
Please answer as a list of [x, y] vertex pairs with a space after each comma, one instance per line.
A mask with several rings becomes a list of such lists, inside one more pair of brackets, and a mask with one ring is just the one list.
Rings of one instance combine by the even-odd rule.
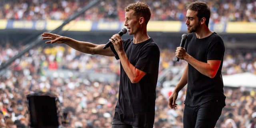
[[43, 40], [50, 40], [46, 41], [45, 43], [59, 43], [59, 44], [66, 44], [75, 50], [80, 52], [84, 52], [86, 54], [99, 54], [104, 56], [115, 56], [110, 48], [103, 49], [105, 44], [92, 44], [90, 42], [82, 42], [78, 40], [74, 40], [72, 38], [66, 36], [60, 36], [57, 34], [52, 33], [43, 33]]

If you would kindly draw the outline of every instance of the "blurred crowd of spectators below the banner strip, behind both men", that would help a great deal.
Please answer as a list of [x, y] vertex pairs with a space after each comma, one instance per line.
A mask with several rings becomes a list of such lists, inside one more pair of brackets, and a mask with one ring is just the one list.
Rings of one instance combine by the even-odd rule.
[[[10, 44], [0, 46], [0, 62], [4, 63], [22, 49]], [[162, 49], [160, 73], [166, 68], [184, 67], [176, 62], [174, 50]], [[109, 68], [108, 68], [109, 67]], [[110, 128], [118, 96], [119, 81], [99, 81], [75, 74], [46, 76], [47, 71], [102, 72], [118, 75], [119, 61], [112, 57], [82, 54], [70, 47], [56, 45], [34, 48], [10, 65], [0, 77], [0, 128], [29, 128], [30, 115], [26, 96], [48, 93], [56, 96], [58, 116], [64, 128]], [[256, 72], [255, 49], [226, 49], [223, 75]], [[175, 74], [173, 74], [175, 75]], [[163, 87], [156, 94], [155, 128], [182, 128], [183, 102], [186, 88], [181, 91], [178, 108], [170, 109]], [[255, 88], [225, 87], [226, 106], [216, 128], [247, 128], [256, 112]], [[170, 95], [171, 92], [168, 92]], [[64, 118], [63, 114], [67, 117]], [[233, 126], [232, 126], [233, 125]], [[81, 126], [81, 127], [80, 127]]]

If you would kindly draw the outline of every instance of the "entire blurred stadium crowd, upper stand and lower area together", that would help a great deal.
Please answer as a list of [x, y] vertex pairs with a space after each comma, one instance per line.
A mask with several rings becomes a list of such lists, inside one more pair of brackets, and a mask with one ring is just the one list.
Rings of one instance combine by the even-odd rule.
[[[143, 0], [142, 0], [143, 1]], [[255, 22], [255, 0], [203, 0], [212, 10], [212, 22]], [[0, 19], [7, 20], [65, 20], [86, 6], [90, 0], [4, 0], [0, 2]], [[78, 20], [123, 21], [129, 0], [105, 0], [86, 11]], [[147, 0], [152, 20], [184, 21], [185, 4], [191, 0]], [[25, 46], [14, 46], [12, 40], [0, 42], [0, 65], [14, 57]], [[174, 49], [160, 49], [161, 74], [168, 68], [182, 68], [176, 62]], [[10, 70], [9, 70], [10, 69]], [[64, 128], [110, 128], [118, 96], [118, 79], [94, 80], [78, 74], [52, 74], [49, 71], [112, 73], [119, 75], [119, 61], [114, 57], [82, 54], [67, 46], [36, 47], [0, 72], [0, 128], [29, 128], [28, 94], [52, 94], [61, 126]], [[226, 49], [223, 75], [251, 72], [256, 74], [255, 48]], [[175, 74], [170, 74], [170, 78]], [[118, 78], [118, 77], [117, 77]], [[154, 128], [182, 128], [184, 96], [179, 94], [178, 107], [168, 107], [163, 86], [156, 88], [156, 116]], [[256, 123], [255, 88], [225, 87], [226, 106], [216, 128], [250, 128]], [[171, 92], [168, 92], [170, 95]], [[64, 117], [64, 113], [67, 114]]]

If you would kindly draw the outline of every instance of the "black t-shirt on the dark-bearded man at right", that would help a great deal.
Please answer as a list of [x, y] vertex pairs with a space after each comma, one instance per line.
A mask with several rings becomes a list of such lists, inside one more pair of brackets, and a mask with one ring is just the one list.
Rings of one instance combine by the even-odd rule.
[[226, 96], [224, 96], [223, 91], [224, 85], [221, 70], [225, 47], [222, 38], [215, 32], [202, 39], [198, 39], [195, 33], [191, 33], [188, 35], [184, 48], [190, 56], [201, 62], [207, 63], [207, 60], [221, 60], [220, 67], [214, 78], [201, 74], [188, 64], [188, 86], [185, 104], [199, 106], [213, 99], [224, 102]]

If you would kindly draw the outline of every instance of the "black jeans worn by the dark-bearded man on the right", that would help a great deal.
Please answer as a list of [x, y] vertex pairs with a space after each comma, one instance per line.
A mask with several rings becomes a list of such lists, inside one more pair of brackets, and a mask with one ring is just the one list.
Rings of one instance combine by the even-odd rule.
[[184, 128], [214, 128], [218, 121], [223, 102], [211, 100], [200, 106], [186, 106], [184, 108]]

